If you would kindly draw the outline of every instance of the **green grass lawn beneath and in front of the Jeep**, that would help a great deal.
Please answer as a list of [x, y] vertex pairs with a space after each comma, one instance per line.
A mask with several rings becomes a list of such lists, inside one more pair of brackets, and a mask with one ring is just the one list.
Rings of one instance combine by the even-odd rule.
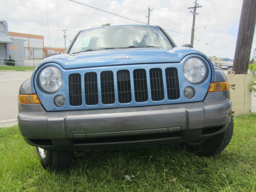
[[[214, 157], [175, 146], [75, 154], [72, 167], [44, 170], [18, 127], [0, 129], [0, 191], [255, 192], [256, 113], [234, 118], [228, 147]], [[135, 175], [131, 182], [123, 180]]]

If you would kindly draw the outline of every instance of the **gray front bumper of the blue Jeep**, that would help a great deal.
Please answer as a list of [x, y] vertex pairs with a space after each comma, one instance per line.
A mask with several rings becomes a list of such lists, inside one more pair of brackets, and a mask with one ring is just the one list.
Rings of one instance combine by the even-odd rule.
[[225, 128], [232, 113], [232, 103], [228, 97], [228, 91], [224, 91], [209, 93], [204, 102], [63, 112], [45, 112], [40, 104], [19, 104], [18, 124], [27, 141], [168, 134], [219, 126]]

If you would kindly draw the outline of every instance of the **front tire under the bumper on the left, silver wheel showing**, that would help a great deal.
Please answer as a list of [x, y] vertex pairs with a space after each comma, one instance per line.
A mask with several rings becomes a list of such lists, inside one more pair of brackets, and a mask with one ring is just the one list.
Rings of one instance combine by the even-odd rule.
[[73, 158], [73, 151], [44, 150], [40, 147], [36, 147], [36, 152], [42, 166], [50, 170], [69, 168]]

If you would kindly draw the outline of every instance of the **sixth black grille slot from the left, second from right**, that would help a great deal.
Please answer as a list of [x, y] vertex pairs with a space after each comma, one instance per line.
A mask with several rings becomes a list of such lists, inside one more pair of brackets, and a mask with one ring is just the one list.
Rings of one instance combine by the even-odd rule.
[[153, 101], [160, 101], [164, 99], [164, 85], [163, 75], [160, 68], [150, 69], [150, 88], [151, 98]]

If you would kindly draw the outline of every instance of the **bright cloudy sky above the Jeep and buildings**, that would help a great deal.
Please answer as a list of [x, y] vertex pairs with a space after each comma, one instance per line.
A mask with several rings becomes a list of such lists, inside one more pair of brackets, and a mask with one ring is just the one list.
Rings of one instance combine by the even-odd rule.
[[[167, 31], [177, 46], [190, 44], [194, 0], [77, 0], [133, 20], [147, 22]], [[234, 58], [242, 0], [198, 0], [194, 48], [207, 56]], [[47, 5], [47, 6], [46, 6]], [[47, 22], [48, 17], [48, 22]], [[140, 24], [69, 0], [0, 0], [0, 20], [9, 31], [44, 36], [44, 46], [64, 47], [79, 30], [111, 25]], [[256, 48], [256, 32], [252, 44]]]

